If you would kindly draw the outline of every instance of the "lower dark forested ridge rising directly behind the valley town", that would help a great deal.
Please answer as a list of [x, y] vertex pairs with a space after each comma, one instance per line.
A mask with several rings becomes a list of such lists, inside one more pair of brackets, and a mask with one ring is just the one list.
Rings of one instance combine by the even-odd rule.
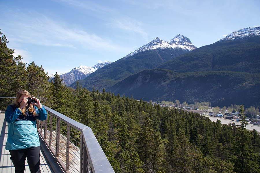
[[210, 101], [212, 106], [260, 105], [260, 74], [243, 72], [176, 73], [166, 69], [143, 70], [111, 88], [115, 94], [153, 101]]

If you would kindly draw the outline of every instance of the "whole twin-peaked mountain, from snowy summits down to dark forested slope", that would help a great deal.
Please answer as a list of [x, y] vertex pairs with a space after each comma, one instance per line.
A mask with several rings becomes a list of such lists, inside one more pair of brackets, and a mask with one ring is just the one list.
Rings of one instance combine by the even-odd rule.
[[[196, 47], [184, 35], [178, 34], [169, 42], [156, 37], [127, 56], [96, 70], [85, 79], [79, 80], [79, 83], [89, 90], [92, 90], [93, 87], [98, 90], [103, 88], [109, 90], [114, 84], [128, 76], [141, 72], [144, 69], [153, 69], [174, 57], [194, 49]], [[75, 86], [75, 83], [70, 86]]]

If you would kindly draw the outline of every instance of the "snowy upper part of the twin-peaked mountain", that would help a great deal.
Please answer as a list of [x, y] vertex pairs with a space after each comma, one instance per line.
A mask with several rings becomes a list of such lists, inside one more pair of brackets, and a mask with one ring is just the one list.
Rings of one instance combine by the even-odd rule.
[[140, 47], [139, 49], [131, 52], [127, 56], [124, 57], [126, 59], [127, 57], [133, 56], [134, 54], [137, 54], [142, 51], [151, 50], [151, 49], [165, 49], [165, 48], [174, 48], [174, 49], [183, 49], [183, 50], [194, 50], [196, 47], [192, 44], [190, 39], [185, 37], [184, 35], [178, 34], [176, 37], [174, 37], [169, 42], [166, 42], [164, 40], [161, 40], [160, 38], [156, 37], [148, 44]]

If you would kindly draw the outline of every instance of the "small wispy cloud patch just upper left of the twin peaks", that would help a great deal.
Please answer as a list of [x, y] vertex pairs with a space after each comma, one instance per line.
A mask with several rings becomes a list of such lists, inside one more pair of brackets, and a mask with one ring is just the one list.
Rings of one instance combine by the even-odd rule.
[[142, 22], [136, 21], [132, 18], [126, 17], [122, 19], [114, 19], [109, 25], [122, 29], [127, 32], [140, 34], [142, 37], [147, 39], [147, 33], [142, 28]]

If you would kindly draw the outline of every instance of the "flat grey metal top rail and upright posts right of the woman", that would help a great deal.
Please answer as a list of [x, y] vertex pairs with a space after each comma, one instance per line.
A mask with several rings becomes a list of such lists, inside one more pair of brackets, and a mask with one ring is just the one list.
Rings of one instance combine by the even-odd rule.
[[[109, 163], [105, 153], [103, 152], [101, 146], [99, 145], [96, 137], [92, 129], [86, 125], [83, 125], [47, 106], [44, 106], [47, 112], [57, 118], [56, 124], [56, 136], [59, 134], [60, 131], [60, 121], [62, 120], [67, 124], [67, 140], [66, 140], [66, 163], [62, 163], [62, 159], [59, 158], [59, 144], [60, 138], [56, 137], [56, 150], [53, 152], [52, 147], [50, 148], [55, 156], [56, 160], [61, 164], [62, 168], [65, 171], [68, 170], [69, 166], [69, 134], [70, 134], [70, 127], [73, 127], [81, 132], [81, 140], [80, 140], [80, 173], [91, 172], [91, 173], [114, 173], [114, 170]], [[47, 127], [47, 120], [44, 122], [44, 126]], [[40, 129], [39, 129], [40, 130]], [[44, 129], [45, 133], [45, 129]], [[42, 134], [41, 134], [42, 136]], [[47, 141], [46, 135], [42, 136], [47, 146], [49, 146], [49, 142]], [[50, 136], [51, 138], [51, 136]], [[50, 140], [51, 141], [51, 140]]]

